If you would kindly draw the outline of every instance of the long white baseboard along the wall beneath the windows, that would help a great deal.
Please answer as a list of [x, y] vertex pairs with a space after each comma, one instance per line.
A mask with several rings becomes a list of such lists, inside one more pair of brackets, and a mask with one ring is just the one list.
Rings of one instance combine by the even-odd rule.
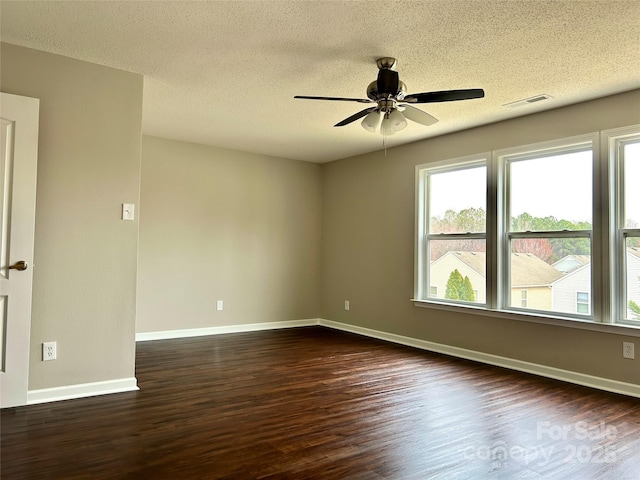
[[465, 348], [452, 347], [450, 345], [444, 345], [441, 343], [428, 342], [426, 340], [419, 340], [416, 338], [405, 337], [405, 336], [396, 335], [393, 333], [381, 332], [378, 330], [373, 330], [365, 327], [358, 327], [358, 326], [349, 325], [346, 323], [333, 322], [331, 320], [320, 319], [318, 324], [325, 327], [329, 327], [329, 328], [335, 328], [337, 330], [357, 333], [359, 335], [365, 335], [367, 337], [377, 338], [380, 340], [386, 340], [393, 343], [399, 343], [401, 345], [420, 348], [422, 350], [429, 350], [431, 352], [443, 353], [445, 355], [465, 358], [467, 360], [474, 360], [476, 362], [487, 363], [489, 365], [495, 365], [498, 367], [509, 368], [511, 370], [517, 370], [520, 372], [540, 375], [542, 377], [548, 377], [548, 378], [562, 380], [569, 383], [575, 383], [577, 385], [583, 385], [585, 387], [597, 388], [599, 390], [605, 390], [613, 393], [621, 393], [623, 395], [640, 398], [640, 385], [633, 384], [633, 383], [626, 383], [626, 382], [620, 382], [618, 380], [611, 380], [608, 378], [595, 377], [595, 376], [587, 375], [584, 373], [573, 372], [570, 370], [563, 370], [560, 368], [549, 367], [546, 365], [540, 365], [536, 363], [524, 362], [522, 360], [501, 357], [498, 355], [477, 352], [474, 350], [467, 350]]

